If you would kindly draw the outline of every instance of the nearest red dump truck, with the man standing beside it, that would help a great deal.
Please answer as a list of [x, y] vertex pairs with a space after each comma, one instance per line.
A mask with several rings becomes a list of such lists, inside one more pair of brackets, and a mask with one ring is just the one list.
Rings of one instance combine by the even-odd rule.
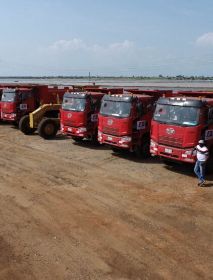
[[150, 153], [166, 161], [196, 162], [191, 154], [200, 139], [209, 148], [208, 172], [213, 172], [213, 92], [179, 91], [182, 97], [156, 102], [151, 122]]

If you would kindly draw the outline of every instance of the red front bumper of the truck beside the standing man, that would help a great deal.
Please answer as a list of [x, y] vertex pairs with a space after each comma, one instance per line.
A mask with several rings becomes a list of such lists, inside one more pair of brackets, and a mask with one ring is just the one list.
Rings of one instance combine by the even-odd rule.
[[[153, 143], [153, 141], [152, 141]], [[186, 151], [192, 151], [192, 149], [181, 149], [181, 148], [174, 148], [170, 146], [165, 146], [161, 144], [157, 144], [154, 142], [155, 146], [150, 145], [150, 153], [153, 155], [159, 155], [164, 158], [168, 158], [170, 160], [175, 161], [183, 161], [183, 162], [190, 162], [195, 163], [197, 158], [196, 155], [186, 154]]]

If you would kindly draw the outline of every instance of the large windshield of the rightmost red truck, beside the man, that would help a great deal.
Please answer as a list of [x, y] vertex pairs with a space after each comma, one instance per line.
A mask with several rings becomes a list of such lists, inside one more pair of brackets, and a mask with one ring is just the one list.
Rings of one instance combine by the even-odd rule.
[[153, 121], [163, 124], [196, 126], [200, 118], [200, 108], [157, 104]]

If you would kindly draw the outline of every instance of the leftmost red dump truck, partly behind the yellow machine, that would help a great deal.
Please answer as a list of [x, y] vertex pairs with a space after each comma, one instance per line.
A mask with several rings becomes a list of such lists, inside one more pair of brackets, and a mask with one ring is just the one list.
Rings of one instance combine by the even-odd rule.
[[58, 88], [47, 85], [16, 85], [3, 89], [1, 117], [5, 121], [18, 123], [23, 116], [29, 115], [41, 103], [55, 104], [68, 87]]

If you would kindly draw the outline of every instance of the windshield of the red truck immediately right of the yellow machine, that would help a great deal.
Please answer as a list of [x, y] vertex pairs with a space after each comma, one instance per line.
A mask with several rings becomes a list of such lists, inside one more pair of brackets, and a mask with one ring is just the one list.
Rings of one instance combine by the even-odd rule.
[[62, 109], [65, 111], [84, 111], [86, 105], [86, 98], [64, 97]]

